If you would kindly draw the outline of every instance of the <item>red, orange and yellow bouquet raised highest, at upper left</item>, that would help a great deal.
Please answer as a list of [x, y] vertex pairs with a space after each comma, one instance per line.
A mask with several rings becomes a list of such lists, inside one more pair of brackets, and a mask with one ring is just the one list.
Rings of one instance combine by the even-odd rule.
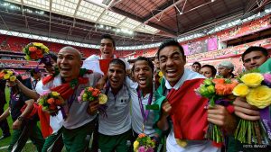
[[23, 48], [23, 53], [25, 53], [26, 60], [38, 60], [42, 59], [45, 54], [49, 53], [49, 49], [42, 43], [32, 42], [27, 44]]

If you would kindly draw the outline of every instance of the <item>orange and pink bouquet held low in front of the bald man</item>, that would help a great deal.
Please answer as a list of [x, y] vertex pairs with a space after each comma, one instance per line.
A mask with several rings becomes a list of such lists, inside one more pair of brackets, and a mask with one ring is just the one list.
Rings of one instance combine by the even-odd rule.
[[65, 104], [65, 101], [58, 92], [51, 92], [43, 94], [38, 99], [38, 103], [42, 105], [42, 111], [56, 115], [58, 111], [63, 110], [62, 106]]

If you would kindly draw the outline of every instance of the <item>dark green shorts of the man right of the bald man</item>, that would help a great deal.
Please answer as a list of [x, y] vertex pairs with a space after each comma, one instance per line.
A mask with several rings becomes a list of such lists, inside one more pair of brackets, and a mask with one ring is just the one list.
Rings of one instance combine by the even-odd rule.
[[103, 135], [98, 133], [98, 148], [101, 152], [129, 152], [132, 149], [132, 130], [120, 135]]

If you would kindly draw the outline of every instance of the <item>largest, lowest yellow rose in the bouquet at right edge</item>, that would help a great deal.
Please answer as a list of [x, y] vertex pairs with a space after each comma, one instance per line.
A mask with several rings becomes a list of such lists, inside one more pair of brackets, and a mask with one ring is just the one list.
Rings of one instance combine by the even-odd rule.
[[260, 85], [256, 88], [250, 89], [246, 96], [247, 102], [257, 108], [264, 109], [271, 104], [271, 89], [266, 85]]

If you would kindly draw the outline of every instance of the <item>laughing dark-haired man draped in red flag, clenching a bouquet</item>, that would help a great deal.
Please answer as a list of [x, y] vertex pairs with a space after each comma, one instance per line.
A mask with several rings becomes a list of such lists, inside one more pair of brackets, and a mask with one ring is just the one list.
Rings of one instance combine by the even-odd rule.
[[[212, 146], [209, 140], [204, 140], [208, 121], [229, 131], [232, 120], [229, 112], [223, 106], [215, 106], [208, 111], [208, 100], [195, 94], [204, 76], [184, 69], [186, 57], [182, 46], [176, 40], [164, 41], [158, 49], [160, 68], [165, 82], [160, 85], [155, 94], [155, 103], [161, 105], [157, 113], [157, 127], [170, 130], [166, 141], [168, 152], [217, 152], [220, 148]], [[175, 139], [185, 139], [186, 147], [178, 145]]]

